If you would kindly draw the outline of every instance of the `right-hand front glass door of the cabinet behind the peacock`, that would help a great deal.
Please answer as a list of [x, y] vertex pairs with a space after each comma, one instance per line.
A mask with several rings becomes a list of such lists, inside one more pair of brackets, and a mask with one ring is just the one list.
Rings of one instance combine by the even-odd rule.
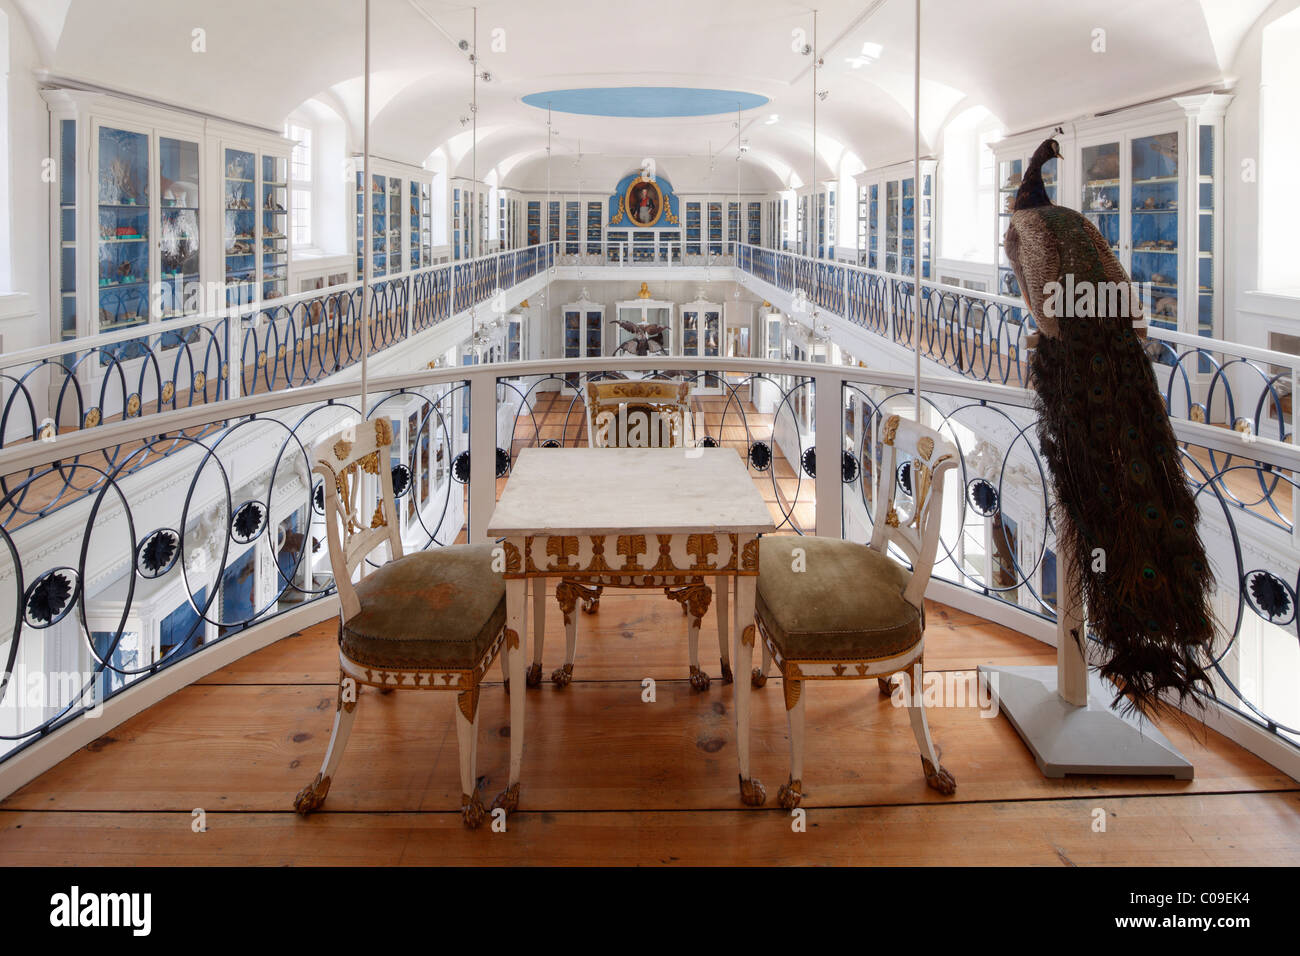
[[[1132, 198], [1128, 267], [1141, 290], [1152, 325], [1178, 328], [1178, 133], [1136, 137], [1130, 142]], [[1150, 294], [1143, 284], [1150, 284]]]

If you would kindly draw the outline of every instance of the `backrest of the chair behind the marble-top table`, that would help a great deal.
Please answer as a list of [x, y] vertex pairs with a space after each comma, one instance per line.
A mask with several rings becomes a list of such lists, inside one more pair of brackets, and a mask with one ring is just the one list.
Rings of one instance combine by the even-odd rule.
[[586, 384], [592, 447], [684, 447], [690, 384], [645, 378]]

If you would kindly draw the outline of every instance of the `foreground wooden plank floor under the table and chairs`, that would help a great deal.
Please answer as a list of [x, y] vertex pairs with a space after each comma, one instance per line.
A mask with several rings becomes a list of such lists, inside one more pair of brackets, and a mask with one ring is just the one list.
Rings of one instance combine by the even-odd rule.
[[[954, 687], [970, 691], [985, 661], [1054, 661], [949, 607], [932, 605], [928, 619], [927, 662]], [[936, 708], [931, 724], [958, 780], [942, 797], [924, 786], [906, 715], [875, 682], [810, 688], [807, 832], [793, 832], [771, 799], [788, 773], [780, 680], [753, 696], [754, 769], [770, 801], [745, 809], [712, 611], [701, 648], [715, 682], [696, 693], [681, 613], [658, 593], [607, 592], [581, 619], [575, 683], [528, 692], [508, 832], [460, 825], [450, 693], [365, 691], [326, 809], [303, 819], [290, 805], [329, 739], [335, 627], [213, 672], [0, 803], [0, 864], [1300, 864], [1300, 784], [1199, 724], [1162, 723], [1195, 780], [1048, 780], [1004, 717]], [[563, 656], [552, 600], [547, 635], [549, 674]], [[653, 704], [641, 700], [646, 676]], [[508, 765], [499, 683], [481, 706], [490, 796]], [[196, 808], [205, 834], [191, 831]]]

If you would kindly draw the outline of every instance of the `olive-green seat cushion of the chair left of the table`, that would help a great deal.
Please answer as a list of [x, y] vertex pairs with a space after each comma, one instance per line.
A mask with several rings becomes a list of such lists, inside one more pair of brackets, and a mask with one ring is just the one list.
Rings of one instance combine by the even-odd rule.
[[370, 667], [472, 669], [506, 623], [493, 545], [454, 545], [390, 561], [356, 585], [361, 613], [339, 628], [343, 653]]

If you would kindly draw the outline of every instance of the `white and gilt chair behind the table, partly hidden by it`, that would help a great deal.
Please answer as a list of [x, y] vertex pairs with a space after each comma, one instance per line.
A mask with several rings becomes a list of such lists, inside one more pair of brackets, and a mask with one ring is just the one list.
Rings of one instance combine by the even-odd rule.
[[[646, 293], [649, 294], [649, 291]], [[685, 447], [690, 444], [690, 384], [666, 380], [594, 381], [586, 385], [588, 440], [594, 447]], [[572, 550], [569, 550], [572, 541]], [[664, 594], [681, 605], [686, 618], [686, 644], [690, 657], [690, 685], [708, 689], [708, 675], [699, 666], [699, 627], [712, 600], [705, 576], [720, 568], [719, 541], [715, 535], [690, 535], [686, 542], [689, 564], [680, 566], [672, 554], [672, 535], [658, 535], [651, 562], [651, 545], [645, 535], [619, 535], [614, 541], [614, 566], [606, 554], [607, 544], [598, 540], [582, 567], [582, 576], [564, 578], [555, 588], [555, 600], [564, 615], [564, 665], [551, 672], [556, 687], [573, 679], [577, 656], [578, 605], [584, 614], [601, 606], [604, 588], [662, 588]], [[734, 546], [728, 551], [734, 561]], [[577, 538], [551, 537], [546, 542], [550, 570], [578, 570]], [[745, 546], [746, 567], [758, 559], [757, 545]], [[692, 574], [684, 576], [681, 571]], [[610, 574], [593, 574], [610, 571]], [[640, 574], [646, 571], [646, 574]], [[667, 574], [672, 572], [672, 574]], [[538, 630], [533, 645], [533, 662], [528, 669], [528, 685], [542, 680], [543, 640]], [[723, 630], [718, 635], [723, 682], [731, 683], [731, 650]]]

